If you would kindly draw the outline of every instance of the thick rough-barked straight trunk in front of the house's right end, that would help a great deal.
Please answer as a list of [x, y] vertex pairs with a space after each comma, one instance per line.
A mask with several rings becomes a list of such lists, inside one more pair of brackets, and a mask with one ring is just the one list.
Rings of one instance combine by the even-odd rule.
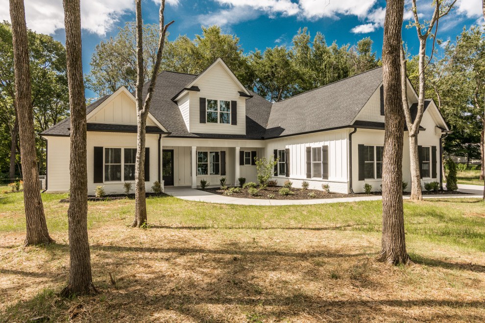
[[388, 264], [410, 262], [406, 251], [402, 189], [404, 112], [400, 47], [404, 0], [388, 0], [384, 22], [384, 162], [382, 193], [382, 250], [377, 259]]

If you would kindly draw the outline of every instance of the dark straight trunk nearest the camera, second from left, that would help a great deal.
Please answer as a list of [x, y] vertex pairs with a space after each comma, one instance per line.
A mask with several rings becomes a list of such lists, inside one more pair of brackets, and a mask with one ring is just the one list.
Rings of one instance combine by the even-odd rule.
[[86, 165], [86, 106], [81, 56], [79, 0], [63, 0], [66, 27], [67, 76], [71, 108], [69, 172], [71, 196], [68, 209], [70, 271], [61, 296], [96, 293], [91, 276], [88, 241], [88, 176]]

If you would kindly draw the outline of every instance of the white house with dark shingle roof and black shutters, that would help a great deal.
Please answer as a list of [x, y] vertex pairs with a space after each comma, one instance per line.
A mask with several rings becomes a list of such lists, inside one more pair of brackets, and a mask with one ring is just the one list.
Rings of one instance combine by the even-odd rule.
[[[381, 184], [384, 144], [382, 68], [272, 103], [245, 89], [219, 58], [199, 75], [158, 75], [146, 127], [145, 180], [197, 187], [204, 179], [229, 185], [256, 182], [255, 157], [275, 158], [274, 179], [290, 179], [334, 192], [362, 192]], [[147, 86], [144, 87], [145, 91]], [[144, 93], [146, 95], [146, 93]], [[417, 95], [408, 81], [414, 115]], [[86, 108], [88, 192], [104, 185], [121, 193], [134, 181], [136, 107], [121, 87]], [[440, 138], [449, 129], [433, 100], [426, 100], [419, 133], [423, 182], [439, 181]], [[41, 134], [47, 139], [47, 190], [69, 189], [67, 118]], [[410, 182], [409, 144], [404, 136], [403, 177]]]

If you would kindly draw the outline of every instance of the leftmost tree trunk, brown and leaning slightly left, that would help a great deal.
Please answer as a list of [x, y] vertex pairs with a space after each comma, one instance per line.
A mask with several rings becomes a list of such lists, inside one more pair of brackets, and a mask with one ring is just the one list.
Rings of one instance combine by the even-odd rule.
[[[23, 0], [10, 0], [15, 64], [15, 97], [19, 120], [20, 158], [24, 179], [24, 206], [27, 233], [24, 245], [49, 244], [44, 205], [40, 194], [35, 151], [34, 118], [31, 98], [27, 26]], [[13, 139], [13, 138], [12, 138]], [[15, 142], [15, 140], [14, 140]]]

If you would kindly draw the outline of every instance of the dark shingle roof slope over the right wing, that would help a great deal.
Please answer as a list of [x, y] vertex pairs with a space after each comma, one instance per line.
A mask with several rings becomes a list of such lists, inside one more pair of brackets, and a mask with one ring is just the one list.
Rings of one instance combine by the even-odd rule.
[[382, 67], [274, 103], [265, 138], [345, 127], [382, 83]]

